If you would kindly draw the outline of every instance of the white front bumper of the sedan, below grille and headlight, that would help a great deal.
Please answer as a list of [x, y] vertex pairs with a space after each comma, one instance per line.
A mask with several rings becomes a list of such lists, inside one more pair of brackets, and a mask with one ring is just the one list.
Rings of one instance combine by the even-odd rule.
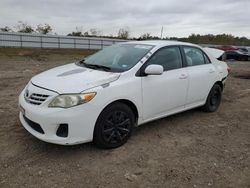
[[[35, 86], [29, 86], [35, 87]], [[39, 90], [40, 88], [33, 88]], [[42, 92], [50, 92], [40, 89]], [[56, 93], [50, 93], [50, 96], [56, 96]], [[87, 104], [79, 105], [76, 107], [62, 109], [62, 108], [48, 108], [48, 103], [54, 97], [48, 98], [41, 105], [34, 105], [28, 103], [24, 99], [24, 91], [19, 96], [19, 105], [22, 110], [19, 113], [19, 119], [23, 127], [33, 136], [40, 140], [49, 143], [60, 145], [74, 145], [79, 143], [90, 142], [93, 139], [93, 132], [98, 112], [96, 105], [92, 105], [91, 101]], [[23, 112], [24, 111], [24, 112]], [[39, 124], [44, 132], [35, 130], [25, 117]], [[67, 137], [61, 137], [56, 134], [60, 124], [68, 124]]]

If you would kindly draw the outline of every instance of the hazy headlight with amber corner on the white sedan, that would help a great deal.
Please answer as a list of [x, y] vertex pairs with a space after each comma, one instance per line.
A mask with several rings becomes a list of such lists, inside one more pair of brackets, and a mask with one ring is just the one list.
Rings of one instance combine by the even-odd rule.
[[50, 102], [49, 107], [70, 108], [91, 101], [95, 95], [95, 92], [59, 95]]

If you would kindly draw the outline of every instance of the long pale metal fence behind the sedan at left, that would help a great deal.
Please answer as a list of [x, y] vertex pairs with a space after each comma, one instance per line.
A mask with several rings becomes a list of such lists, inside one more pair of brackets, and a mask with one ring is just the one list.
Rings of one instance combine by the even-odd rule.
[[103, 49], [125, 40], [0, 32], [0, 47]]

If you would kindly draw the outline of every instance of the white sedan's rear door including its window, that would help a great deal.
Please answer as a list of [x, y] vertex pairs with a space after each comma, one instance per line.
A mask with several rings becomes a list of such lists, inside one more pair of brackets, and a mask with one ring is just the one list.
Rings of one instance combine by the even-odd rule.
[[215, 82], [216, 70], [201, 49], [183, 46], [183, 53], [189, 76], [186, 107], [200, 105], [206, 100]]

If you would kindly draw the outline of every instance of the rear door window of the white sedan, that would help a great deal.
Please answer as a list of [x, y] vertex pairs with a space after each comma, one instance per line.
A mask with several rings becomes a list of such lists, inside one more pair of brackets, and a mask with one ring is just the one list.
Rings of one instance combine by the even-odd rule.
[[201, 50], [192, 47], [183, 47], [183, 49], [186, 55], [188, 67], [206, 64]]

